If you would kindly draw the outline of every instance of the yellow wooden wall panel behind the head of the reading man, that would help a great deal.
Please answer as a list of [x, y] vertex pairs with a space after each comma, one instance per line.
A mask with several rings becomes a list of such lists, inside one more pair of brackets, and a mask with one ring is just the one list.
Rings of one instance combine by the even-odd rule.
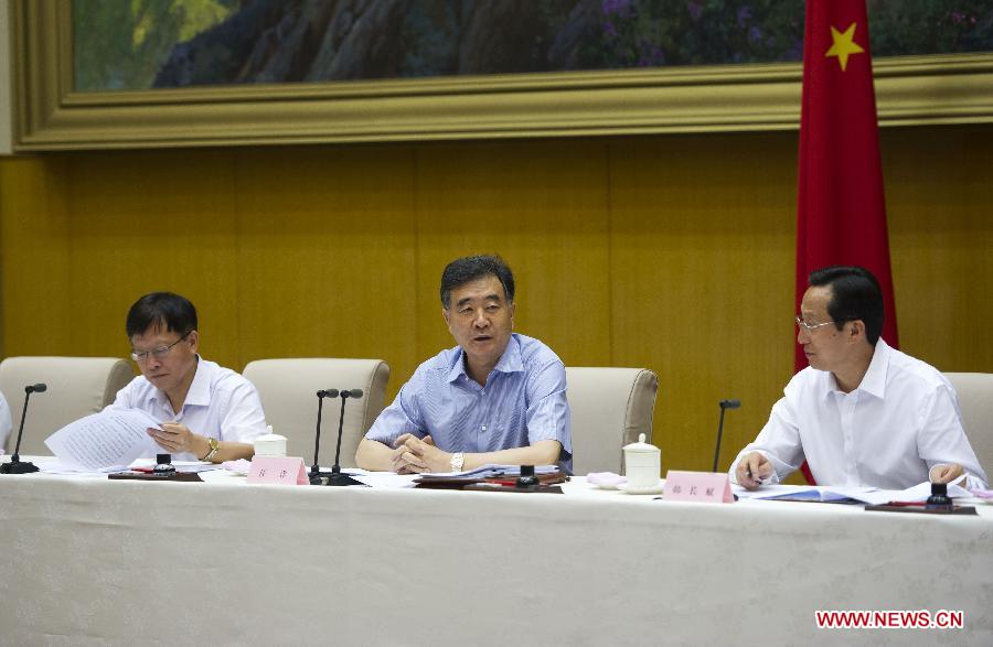
[[201, 353], [239, 365], [232, 153], [79, 154], [70, 169], [76, 354], [125, 356], [128, 308], [169, 290], [196, 305]]

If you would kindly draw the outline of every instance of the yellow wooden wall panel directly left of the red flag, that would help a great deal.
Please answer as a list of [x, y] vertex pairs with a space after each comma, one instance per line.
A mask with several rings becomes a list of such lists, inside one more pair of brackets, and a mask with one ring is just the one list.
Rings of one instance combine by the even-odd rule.
[[[769, 141], [782, 140], [770, 147]], [[664, 138], [611, 147], [613, 360], [659, 374], [663, 471], [722, 466], [792, 374], [796, 172], [788, 136]], [[770, 151], [770, 149], [772, 149]], [[770, 169], [777, 169], [772, 173]]]

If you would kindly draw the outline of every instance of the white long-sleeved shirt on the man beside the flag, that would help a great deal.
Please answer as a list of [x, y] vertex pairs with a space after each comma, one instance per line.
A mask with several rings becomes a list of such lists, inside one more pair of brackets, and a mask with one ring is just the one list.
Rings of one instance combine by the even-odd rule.
[[807, 460], [819, 485], [905, 489], [947, 463], [965, 470], [968, 487], [986, 484], [954, 388], [938, 369], [882, 338], [850, 393], [830, 371], [808, 367], [794, 375], [769, 422], [732, 464], [733, 482], [738, 462], [752, 451], [772, 464], [773, 483]]

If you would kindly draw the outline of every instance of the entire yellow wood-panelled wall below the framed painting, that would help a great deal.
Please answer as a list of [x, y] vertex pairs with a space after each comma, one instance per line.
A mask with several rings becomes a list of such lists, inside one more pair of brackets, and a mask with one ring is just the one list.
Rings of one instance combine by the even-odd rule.
[[[904, 348], [993, 371], [993, 128], [883, 132]], [[663, 468], [723, 465], [792, 371], [797, 133], [100, 152], [0, 160], [2, 353], [118, 355], [140, 294], [202, 349], [382, 357], [391, 397], [451, 345], [437, 283], [498, 251], [517, 328], [660, 376]], [[853, 233], [857, 235], [857, 233]]]

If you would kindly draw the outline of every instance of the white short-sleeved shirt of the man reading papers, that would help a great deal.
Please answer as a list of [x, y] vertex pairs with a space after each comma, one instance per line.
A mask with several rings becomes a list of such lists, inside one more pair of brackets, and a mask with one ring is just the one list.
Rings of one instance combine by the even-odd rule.
[[[160, 422], [185, 424], [193, 433], [221, 441], [252, 443], [266, 433], [266, 416], [255, 386], [231, 370], [196, 356], [196, 374], [182, 410], [173, 411], [169, 397], [139, 375], [117, 392], [104, 410], [141, 409]], [[160, 450], [166, 452], [166, 450]], [[149, 453], [154, 457], [154, 453]], [[190, 453], [173, 454], [173, 461], [197, 461]]]

